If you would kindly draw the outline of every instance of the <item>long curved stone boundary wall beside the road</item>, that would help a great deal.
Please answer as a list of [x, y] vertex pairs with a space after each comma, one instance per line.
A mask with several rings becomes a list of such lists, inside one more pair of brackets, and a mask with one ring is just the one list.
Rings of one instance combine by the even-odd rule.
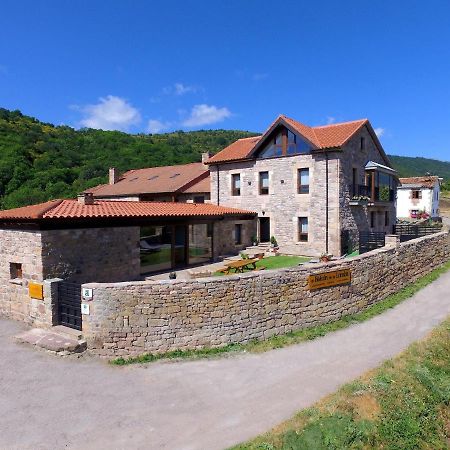
[[[391, 242], [392, 238], [388, 239]], [[374, 304], [450, 259], [447, 232], [328, 264], [192, 281], [85, 285], [89, 348], [119, 356], [221, 346], [339, 319]], [[308, 290], [308, 275], [349, 268], [350, 285]]]

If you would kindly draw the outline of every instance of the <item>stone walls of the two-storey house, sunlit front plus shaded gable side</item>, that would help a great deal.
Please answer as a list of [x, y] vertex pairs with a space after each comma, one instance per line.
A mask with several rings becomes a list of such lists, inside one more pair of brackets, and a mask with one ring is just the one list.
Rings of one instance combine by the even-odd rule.
[[[365, 138], [361, 150], [360, 139]], [[368, 161], [386, 165], [367, 127], [362, 127], [342, 147], [323, 152], [256, 158], [212, 164], [211, 202], [258, 213], [270, 219], [270, 235], [275, 236], [280, 251], [289, 254], [318, 256], [321, 253], [341, 255], [341, 236], [347, 231], [353, 243], [359, 230], [392, 231], [395, 223], [395, 203], [373, 206], [350, 206], [353, 168], [357, 169], [358, 184], [365, 184], [364, 167]], [[326, 173], [328, 166], [328, 249], [326, 245]], [[309, 169], [309, 193], [297, 192], [298, 169]], [[269, 172], [269, 194], [259, 193], [259, 173]], [[232, 195], [232, 175], [240, 174], [240, 195]], [[374, 212], [374, 227], [370, 213]], [[388, 226], [385, 226], [385, 211]], [[299, 240], [299, 217], [308, 218], [308, 241]]]

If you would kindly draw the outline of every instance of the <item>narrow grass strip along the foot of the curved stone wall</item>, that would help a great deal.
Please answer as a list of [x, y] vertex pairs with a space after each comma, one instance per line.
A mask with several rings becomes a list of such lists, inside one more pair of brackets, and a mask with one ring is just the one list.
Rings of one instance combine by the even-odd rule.
[[126, 365], [133, 363], [147, 363], [158, 361], [161, 359], [178, 359], [178, 358], [208, 358], [214, 357], [225, 353], [247, 351], [247, 352], [264, 352], [275, 348], [282, 348], [288, 345], [297, 344], [299, 342], [316, 339], [320, 336], [325, 336], [327, 333], [337, 331], [342, 328], [346, 328], [354, 323], [364, 322], [372, 317], [381, 314], [382, 312], [393, 308], [401, 303], [403, 300], [413, 296], [420, 289], [424, 288], [428, 284], [439, 278], [440, 275], [450, 270], [450, 261], [443, 264], [441, 267], [434, 269], [429, 274], [419, 278], [414, 283], [404, 287], [400, 291], [386, 297], [381, 302], [370, 306], [366, 310], [342, 317], [335, 322], [318, 325], [311, 328], [306, 328], [297, 331], [291, 331], [280, 336], [273, 336], [263, 341], [251, 341], [246, 344], [229, 344], [219, 348], [204, 348], [200, 350], [175, 350], [167, 353], [152, 354], [146, 353], [141, 356], [135, 356], [130, 358], [117, 358], [111, 361], [111, 364]]

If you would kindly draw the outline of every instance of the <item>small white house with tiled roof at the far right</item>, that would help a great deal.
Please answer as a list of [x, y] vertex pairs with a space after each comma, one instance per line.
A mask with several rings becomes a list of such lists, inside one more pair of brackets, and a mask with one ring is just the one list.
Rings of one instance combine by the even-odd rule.
[[425, 212], [439, 217], [439, 195], [442, 178], [436, 176], [400, 178], [397, 188], [397, 217], [419, 218]]

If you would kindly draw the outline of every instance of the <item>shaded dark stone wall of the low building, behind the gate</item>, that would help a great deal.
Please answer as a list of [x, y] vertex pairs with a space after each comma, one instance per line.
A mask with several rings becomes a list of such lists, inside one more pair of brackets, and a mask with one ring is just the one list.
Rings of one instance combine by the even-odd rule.
[[86, 283], [140, 278], [139, 227], [42, 232], [44, 278]]

